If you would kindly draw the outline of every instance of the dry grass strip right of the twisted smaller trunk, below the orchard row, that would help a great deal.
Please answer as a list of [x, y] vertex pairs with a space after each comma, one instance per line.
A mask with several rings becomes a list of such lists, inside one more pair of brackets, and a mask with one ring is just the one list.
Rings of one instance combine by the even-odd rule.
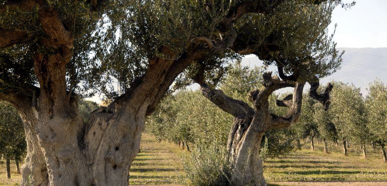
[[[308, 147], [305, 147], [308, 148]], [[298, 150], [281, 158], [269, 158], [264, 162], [264, 175], [268, 181], [387, 181], [387, 163], [379, 151], [361, 158], [360, 151], [349, 148], [349, 156], [341, 149], [330, 146], [331, 153]], [[384, 182], [383, 184], [387, 184]]]

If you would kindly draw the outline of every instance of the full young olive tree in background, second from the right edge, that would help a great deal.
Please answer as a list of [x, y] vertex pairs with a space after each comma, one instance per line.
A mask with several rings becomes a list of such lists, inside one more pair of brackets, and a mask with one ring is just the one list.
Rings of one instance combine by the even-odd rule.
[[333, 82], [331, 111], [333, 123], [338, 136], [343, 140], [343, 153], [347, 153], [347, 141], [359, 144], [365, 153], [365, 143], [368, 141], [369, 130], [366, 126], [364, 101], [360, 88], [342, 82]]

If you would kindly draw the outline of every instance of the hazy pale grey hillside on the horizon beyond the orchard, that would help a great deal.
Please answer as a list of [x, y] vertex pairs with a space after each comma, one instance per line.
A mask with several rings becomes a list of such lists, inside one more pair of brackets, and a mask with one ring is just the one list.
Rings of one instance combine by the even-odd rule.
[[[387, 48], [339, 48], [339, 50], [345, 50], [341, 69], [321, 79], [321, 83], [325, 84], [332, 79], [353, 83], [361, 87], [363, 95], [367, 92], [368, 84], [375, 78], [387, 83]], [[242, 63], [250, 66], [262, 64], [255, 56], [244, 58]], [[275, 71], [274, 68], [269, 70]]]

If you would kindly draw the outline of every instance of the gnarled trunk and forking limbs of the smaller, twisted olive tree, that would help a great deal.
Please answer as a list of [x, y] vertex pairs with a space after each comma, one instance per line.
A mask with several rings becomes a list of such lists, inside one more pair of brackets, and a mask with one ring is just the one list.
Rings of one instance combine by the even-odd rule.
[[[265, 89], [250, 92], [254, 109], [246, 103], [234, 100], [222, 90], [212, 89], [201, 84], [203, 95], [222, 110], [234, 116], [227, 141], [227, 160], [232, 165], [232, 185], [266, 185], [263, 177], [262, 160], [259, 156], [260, 144], [265, 131], [291, 125], [299, 119], [304, 83], [279, 80], [271, 72], [264, 74]], [[295, 86], [292, 100], [277, 101], [277, 105], [289, 107], [285, 116], [271, 114], [268, 110], [268, 97], [279, 88]]]

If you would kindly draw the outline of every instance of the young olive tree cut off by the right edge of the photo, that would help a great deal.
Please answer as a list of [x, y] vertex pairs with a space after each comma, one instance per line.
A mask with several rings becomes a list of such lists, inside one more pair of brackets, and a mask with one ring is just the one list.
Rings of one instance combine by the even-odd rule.
[[385, 145], [387, 143], [387, 85], [380, 80], [369, 84], [365, 101], [372, 141], [380, 146], [384, 162], [387, 162]]

